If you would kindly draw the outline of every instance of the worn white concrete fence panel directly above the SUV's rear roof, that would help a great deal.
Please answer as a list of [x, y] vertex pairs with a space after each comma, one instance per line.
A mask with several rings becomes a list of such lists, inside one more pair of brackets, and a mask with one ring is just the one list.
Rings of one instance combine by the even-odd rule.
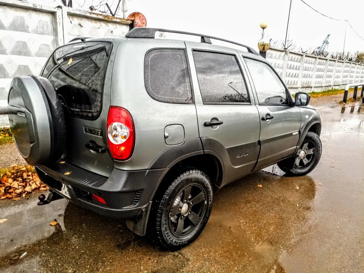
[[[109, 21], [101, 21], [91, 18], [68, 15], [67, 22], [68, 40], [75, 37], [105, 37], [105, 36], [125, 36], [129, 31], [129, 26]], [[66, 41], [68, 41], [66, 39]]]

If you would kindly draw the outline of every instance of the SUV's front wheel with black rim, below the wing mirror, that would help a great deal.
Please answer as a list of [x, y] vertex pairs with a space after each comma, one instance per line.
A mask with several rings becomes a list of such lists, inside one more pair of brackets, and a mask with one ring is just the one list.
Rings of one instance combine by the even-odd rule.
[[308, 132], [297, 154], [277, 163], [278, 167], [288, 175], [305, 175], [312, 171], [322, 153], [322, 143], [314, 132]]

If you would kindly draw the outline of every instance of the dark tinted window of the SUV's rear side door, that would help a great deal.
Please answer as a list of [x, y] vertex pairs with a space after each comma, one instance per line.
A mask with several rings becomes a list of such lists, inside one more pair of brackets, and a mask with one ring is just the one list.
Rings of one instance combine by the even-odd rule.
[[193, 51], [202, 100], [249, 102], [245, 82], [234, 55]]

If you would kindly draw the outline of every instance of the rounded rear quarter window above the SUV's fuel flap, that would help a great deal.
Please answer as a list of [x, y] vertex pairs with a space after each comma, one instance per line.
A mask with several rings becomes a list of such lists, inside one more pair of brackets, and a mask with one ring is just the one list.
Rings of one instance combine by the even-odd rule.
[[145, 87], [155, 100], [192, 103], [191, 84], [185, 51], [154, 49], [145, 56]]

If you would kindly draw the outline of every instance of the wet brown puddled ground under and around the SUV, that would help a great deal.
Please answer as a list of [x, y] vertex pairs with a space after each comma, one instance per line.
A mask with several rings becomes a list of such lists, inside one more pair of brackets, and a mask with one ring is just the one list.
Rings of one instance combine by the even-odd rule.
[[323, 121], [316, 169], [292, 178], [272, 166], [226, 186], [186, 248], [166, 252], [124, 223], [64, 199], [37, 206], [33, 194], [0, 201], [0, 272], [363, 272], [364, 104], [311, 103]]

